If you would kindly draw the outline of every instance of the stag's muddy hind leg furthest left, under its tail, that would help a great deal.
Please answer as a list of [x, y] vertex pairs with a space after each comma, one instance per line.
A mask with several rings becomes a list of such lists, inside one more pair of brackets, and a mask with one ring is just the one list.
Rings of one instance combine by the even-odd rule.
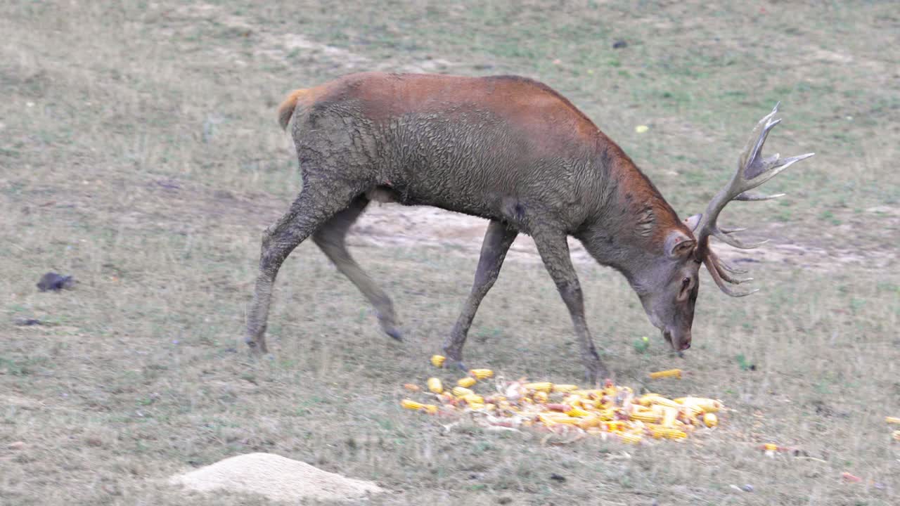
[[361, 192], [347, 185], [320, 178], [303, 182], [301, 194], [290, 211], [263, 233], [259, 255], [259, 275], [253, 302], [247, 311], [245, 342], [252, 350], [266, 353], [266, 321], [272, 300], [272, 286], [284, 259], [303, 240], [347, 208]]

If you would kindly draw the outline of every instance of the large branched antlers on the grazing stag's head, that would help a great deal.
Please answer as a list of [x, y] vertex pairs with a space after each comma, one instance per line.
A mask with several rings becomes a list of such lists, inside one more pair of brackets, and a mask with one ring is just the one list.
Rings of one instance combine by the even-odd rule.
[[746, 229], [726, 229], [725, 227], [719, 227], [716, 223], [719, 212], [722, 212], [725, 205], [733, 200], [758, 201], [783, 196], [784, 194], [756, 194], [752, 193], [750, 190], [769, 181], [772, 177], [778, 176], [779, 172], [794, 165], [798, 161], [812, 157], [815, 154], [806, 153], [806, 155], [800, 155], [798, 157], [779, 158], [778, 153], [776, 153], [768, 158], [762, 158], [762, 145], [766, 142], [769, 131], [781, 122], [780, 119], [774, 119], [775, 114], [779, 112], [779, 104], [775, 104], [775, 108], [772, 109], [772, 112], [757, 123], [756, 128], [752, 131], [750, 140], [747, 142], [747, 145], [741, 153], [741, 157], [738, 158], [737, 171], [734, 173], [734, 176], [732, 176], [731, 181], [729, 181], [724, 188], [719, 190], [719, 193], [717, 193], [709, 205], [707, 205], [707, 212], [704, 212], [700, 216], [700, 221], [694, 229], [698, 244], [694, 253], [695, 258], [697, 258], [698, 261], [702, 261], [707, 266], [707, 270], [709, 270], [709, 274], [713, 276], [716, 285], [718, 285], [725, 294], [729, 294], [733, 297], [743, 297], [744, 295], [752, 294], [758, 290], [734, 292], [728, 285], [725, 285], [725, 282], [732, 285], [740, 285], [747, 281], [752, 281], [753, 278], [738, 279], [730, 276], [728, 273], [743, 274], [746, 271], [729, 266], [721, 258], [718, 258], [712, 248], [709, 248], [709, 236], [714, 235], [726, 244], [742, 249], [758, 248], [762, 244], [768, 242], [768, 239], [755, 244], [747, 244], [734, 238], [731, 234]]

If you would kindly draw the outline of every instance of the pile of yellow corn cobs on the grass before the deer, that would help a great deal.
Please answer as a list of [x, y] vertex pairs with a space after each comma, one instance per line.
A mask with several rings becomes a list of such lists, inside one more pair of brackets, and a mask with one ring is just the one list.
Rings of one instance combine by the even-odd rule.
[[[432, 357], [441, 366], [444, 357]], [[680, 376], [677, 369], [654, 377]], [[644, 438], [683, 439], [699, 427], [716, 427], [716, 412], [722, 402], [701, 397], [668, 399], [657, 393], [635, 395], [631, 388], [607, 380], [603, 388], [582, 389], [577, 384], [494, 382], [493, 393], [475, 393], [476, 384], [493, 377], [490, 369], [473, 369], [454, 386], [446, 386], [437, 377], [428, 379], [432, 402], [404, 399], [401, 406], [439, 416], [471, 413], [473, 420], [486, 426], [518, 429], [531, 427], [551, 431], [581, 431], [602, 438], [618, 438], [638, 443]], [[421, 392], [417, 384], [405, 384], [407, 390]]]

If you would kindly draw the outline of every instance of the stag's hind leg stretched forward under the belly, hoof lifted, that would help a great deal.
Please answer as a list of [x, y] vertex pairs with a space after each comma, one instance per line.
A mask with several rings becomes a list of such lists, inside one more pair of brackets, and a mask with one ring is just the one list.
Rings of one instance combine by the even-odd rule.
[[312, 240], [319, 245], [319, 248], [322, 249], [335, 267], [338, 267], [338, 271], [347, 276], [356, 285], [356, 288], [365, 295], [369, 303], [372, 303], [382, 330], [393, 339], [401, 340], [401, 333], [396, 327], [391, 297], [388, 297], [378, 285], [375, 285], [372, 278], [365, 274], [362, 267], [359, 267], [356, 260], [350, 256], [350, 252], [347, 251], [347, 230], [365, 211], [365, 206], [368, 203], [369, 199], [365, 195], [356, 197], [356, 200], [350, 204], [350, 207], [335, 214], [319, 230], [316, 230], [312, 234]]

